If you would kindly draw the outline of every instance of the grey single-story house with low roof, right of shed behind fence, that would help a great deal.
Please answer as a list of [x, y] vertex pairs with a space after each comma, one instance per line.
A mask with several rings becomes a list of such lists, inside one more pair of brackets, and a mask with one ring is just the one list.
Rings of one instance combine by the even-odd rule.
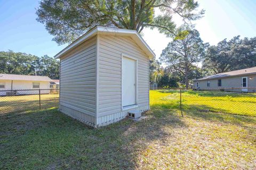
[[196, 79], [194, 80], [193, 88], [256, 92], [256, 67], [219, 73], [202, 79]]

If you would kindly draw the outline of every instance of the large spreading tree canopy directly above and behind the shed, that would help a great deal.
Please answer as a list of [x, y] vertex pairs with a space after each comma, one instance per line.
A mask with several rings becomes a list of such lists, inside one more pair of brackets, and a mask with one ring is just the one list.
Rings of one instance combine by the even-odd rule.
[[[194, 0], [43, 0], [37, 9], [37, 21], [59, 45], [74, 41], [95, 25], [137, 30], [158, 28], [172, 35], [177, 14], [188, 22], [202, 17]], [[161, 14], [156, 15], [156, 8]]]

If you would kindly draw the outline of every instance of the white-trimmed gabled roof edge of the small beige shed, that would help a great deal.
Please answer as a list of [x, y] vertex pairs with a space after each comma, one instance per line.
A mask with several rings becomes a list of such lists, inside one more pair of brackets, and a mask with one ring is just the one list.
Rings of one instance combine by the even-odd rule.
[[147, 45], [145, 40], [143, 40], [143, 38], [135, 30], [95, 26], [94, 28], [86, 32], [83, 36], [79, 37], [73, 43], [68, 45], [66, 48], [62, 49], [58, 54], [54, 56], [54, 58], [61, 58], [63, 55], [67, 54], [71, 49], [81, 45], [82, 43], [84, 43], [84, 41], [90, 39], [95, 35], [130, 36], [149, 58], [154, 58], [156, 56], [153, 50]]

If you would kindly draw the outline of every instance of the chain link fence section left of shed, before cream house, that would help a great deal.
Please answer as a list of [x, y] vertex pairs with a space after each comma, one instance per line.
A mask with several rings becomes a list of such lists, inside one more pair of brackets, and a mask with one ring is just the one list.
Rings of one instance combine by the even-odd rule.
[[52, 107], [59, 107], [59, 89], [0, 91], [0, 114]]

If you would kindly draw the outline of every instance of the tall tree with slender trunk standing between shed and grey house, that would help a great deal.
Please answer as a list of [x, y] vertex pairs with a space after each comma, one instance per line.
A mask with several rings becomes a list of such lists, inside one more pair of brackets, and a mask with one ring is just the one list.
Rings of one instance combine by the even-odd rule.
[[185, 77], [188, 88], [189, 74], [197, 69], [195, 64], [203, 59], [208, 44], [203, 43], [195, 29], [181, 27], [176, 35], [178, 36], [163, 50], [160, 60], [170, 69], [179, 71]]

